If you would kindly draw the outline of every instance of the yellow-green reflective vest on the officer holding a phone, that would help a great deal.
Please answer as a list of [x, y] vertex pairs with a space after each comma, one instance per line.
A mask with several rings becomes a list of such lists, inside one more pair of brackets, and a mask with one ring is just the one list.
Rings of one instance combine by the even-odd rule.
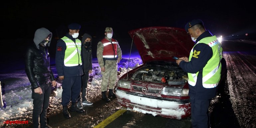
[[[204, 43], [211, 47], [212, 49], [212, 57], [207, 62], [207, 64], [203, 67], [202, 70], [202, 85], [204, 88], [214, 88], [218, 85], [220, 80], [220, 71], [221, 71], [221, 59], [222, 59], [222, 47], [216, 36], [205, 37], [198, 41], [198, 43]], [[193, 47], [194, 48], [194, 47]], [[190, 52], [189, 61], [193, 56], [194, 51], [193, 48]], [[199, 72], [199, 71], [198, 71]], [[196, 73], [188, 73], [189, 84], [195, 86], [197, 75]]]

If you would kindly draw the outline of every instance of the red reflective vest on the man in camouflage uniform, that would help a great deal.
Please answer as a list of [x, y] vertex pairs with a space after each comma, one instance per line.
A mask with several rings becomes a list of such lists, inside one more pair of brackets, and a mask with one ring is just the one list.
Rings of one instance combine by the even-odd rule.
[[117, 58], [117, 41], [115, 39], [111, 39], [109, 42], [107, 39], [101, 40], [104, 48], [103, 48], [103, 58]]

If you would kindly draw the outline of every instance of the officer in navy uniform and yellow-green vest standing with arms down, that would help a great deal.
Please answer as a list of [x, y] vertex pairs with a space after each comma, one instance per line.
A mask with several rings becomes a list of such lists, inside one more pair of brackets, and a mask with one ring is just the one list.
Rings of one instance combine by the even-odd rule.
[[62, 80], [62, 102], [64, 118], [70, 118], [67, 105], [71, 99], [71, 112], [84, 112], [77, 107], [80, 99], [81, 75], [83, 75], [81, 59], [81, 41], [77, 39], [81, 26], [76, 23], [68, 25], [68, 33], [58, 40], [56, 45], [56, 69]]

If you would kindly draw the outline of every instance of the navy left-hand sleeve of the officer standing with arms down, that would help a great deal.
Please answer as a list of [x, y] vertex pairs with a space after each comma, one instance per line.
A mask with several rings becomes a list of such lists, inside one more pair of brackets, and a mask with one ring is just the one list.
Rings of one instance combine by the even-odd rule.
[[60, 39], [56, 45], [56, 55], [55, 55], [55, 63], [56, 69], [58, 72], [58, 76], [64, 76], [63, 66], [64, 66], [64, 57], [65, 57], [66, 44]]

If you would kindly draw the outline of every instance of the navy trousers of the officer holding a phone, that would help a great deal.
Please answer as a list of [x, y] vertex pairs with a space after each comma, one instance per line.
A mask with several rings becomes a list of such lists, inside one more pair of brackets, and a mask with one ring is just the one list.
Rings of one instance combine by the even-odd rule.
[[208, 108], [211, 100], [208, 99], [190, 99], [191, 101], [191, 119], [193, 128], [209, 128], [210, 117]]

